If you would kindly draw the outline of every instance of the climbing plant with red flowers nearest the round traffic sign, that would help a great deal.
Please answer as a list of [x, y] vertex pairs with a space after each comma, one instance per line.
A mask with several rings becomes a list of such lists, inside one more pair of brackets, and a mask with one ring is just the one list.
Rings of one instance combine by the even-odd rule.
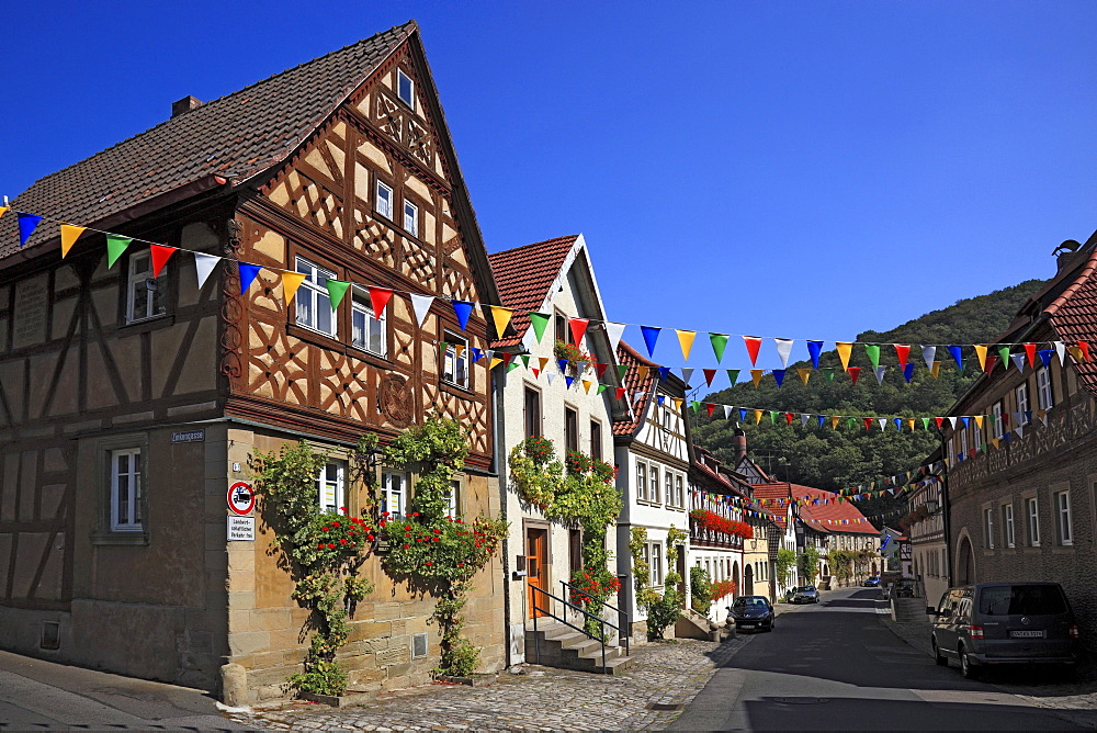
[[260, 453], [253, 467], [265, 519], [274, 530], [272, 545], [294, 579], [293, 597], [312, 610], [305, 670], [289, 681], [306, 692], [342, 695], [347, 670], [335, 656], [347, 642], [348, 607], [373, 591], [373, 584], [358, 573], [376, 532], [367, 520], [348, 516], [347, 507], [340, 515], [319, 514], [316, 477], [326, 462], [326, 454], [301, 442]]

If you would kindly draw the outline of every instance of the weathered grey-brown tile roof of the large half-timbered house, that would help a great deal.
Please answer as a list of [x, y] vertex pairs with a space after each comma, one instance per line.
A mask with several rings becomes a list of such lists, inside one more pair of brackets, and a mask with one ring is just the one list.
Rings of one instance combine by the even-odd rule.
[[[38, 179], [12, 208], [109, 226], [126, 210], [213, 176], [241, 182], [290, 155], [417, 30], [409, 21], [167, 120]], [[26, 248], [57, 236], [44, 222]], [[0, 218], [0, 259], [18, 250], [9, 213]]]

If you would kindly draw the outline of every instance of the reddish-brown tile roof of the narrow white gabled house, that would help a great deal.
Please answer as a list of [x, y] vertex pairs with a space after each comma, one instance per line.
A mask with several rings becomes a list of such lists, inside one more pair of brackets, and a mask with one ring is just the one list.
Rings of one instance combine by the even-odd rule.
[[578, 238], [577, 234], [556, 237], [488, 255], [499, 297], [506, 307], [517, 312], [510, 322], [516, 335], [493, 341], [491, 348], [522, 342], [530, 328], [529, 312], [540, 311], [544, 305], [548, 289], [559, 277], [564, 261]]

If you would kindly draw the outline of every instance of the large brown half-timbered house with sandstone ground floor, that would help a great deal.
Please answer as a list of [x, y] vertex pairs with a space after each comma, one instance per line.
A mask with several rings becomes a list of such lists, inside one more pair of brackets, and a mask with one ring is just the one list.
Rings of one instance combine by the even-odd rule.
[[[15, 199], [47, 217], [25, 246], [0, 219], [0, 645], [210, 689], [235, 664], [253, 701], [299, 670], [308, 612], [261, 503], [255, 541], [226, 540], [227, 488], [304, 439], [329, 454], [317, 510], [362, 511], [348, 449], [438, 410], [470, 429], [454, 511], [498, 514], [467, 356], [488, 326], [446, 304], [498, 294], [414, 22], [172, 113]], [[58, 221], [138, 240], [111, 267], [88, 229], [63, 258]], [[157, 272], [139, 240], [178, 250]], [[227, 260], [208, 279], [203, 253]], [[235, 261], [263, 268], [242, 293]], [[280, 272], [304, 275], [292, 300]], [[335, 304], [328, 281], [353, 284]], [[415, 476], [376, 471], [399, 514]], [[426, 679], [433, 601], [366, 573], [352, 686]], [[502, 582], [495, 561], [467, 607], [488, 668]]]

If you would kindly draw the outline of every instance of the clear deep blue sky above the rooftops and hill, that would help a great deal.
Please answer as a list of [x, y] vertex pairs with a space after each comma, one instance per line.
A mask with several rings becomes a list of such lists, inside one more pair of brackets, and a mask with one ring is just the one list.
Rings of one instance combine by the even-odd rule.
[[0, 193], [408, 18], [488, 249], [583, 232], [615, 320], [852, 339], [1097, 228], [1092, 2], [9, 3]]

